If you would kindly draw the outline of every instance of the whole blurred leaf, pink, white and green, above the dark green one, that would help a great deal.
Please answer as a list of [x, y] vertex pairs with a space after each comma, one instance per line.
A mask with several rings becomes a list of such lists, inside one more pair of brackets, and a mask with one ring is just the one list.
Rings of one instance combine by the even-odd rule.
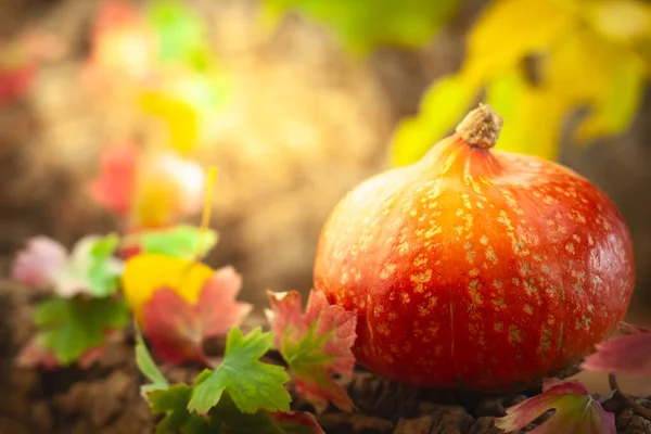
[[112, 295], [118, 289], [124, 269], [123, 261], [113, 257], [118, 243], [115, 234], [87, 235], [68, 254], [56, 241], [36, 237], [16, 256], [12, 276], [27, 286], [53, 286], [63, 297]]

